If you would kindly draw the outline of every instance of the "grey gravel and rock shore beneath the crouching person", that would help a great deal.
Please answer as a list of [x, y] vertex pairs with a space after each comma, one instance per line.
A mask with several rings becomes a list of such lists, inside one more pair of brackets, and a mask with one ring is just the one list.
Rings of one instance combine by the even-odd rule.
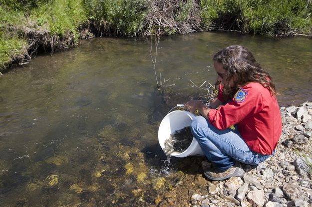
[[[244, 165], [244, 177], [209, 181], [192, 157], [190, 170], [161, 191], [159, 207], [311, 207], [312, 103], [281, 107], [283, 132], [275, 156], [258, 166]], [[307, 165], [308, 163], [308, 165]], [[184, 163], [185, 164], [185, 163]]]

